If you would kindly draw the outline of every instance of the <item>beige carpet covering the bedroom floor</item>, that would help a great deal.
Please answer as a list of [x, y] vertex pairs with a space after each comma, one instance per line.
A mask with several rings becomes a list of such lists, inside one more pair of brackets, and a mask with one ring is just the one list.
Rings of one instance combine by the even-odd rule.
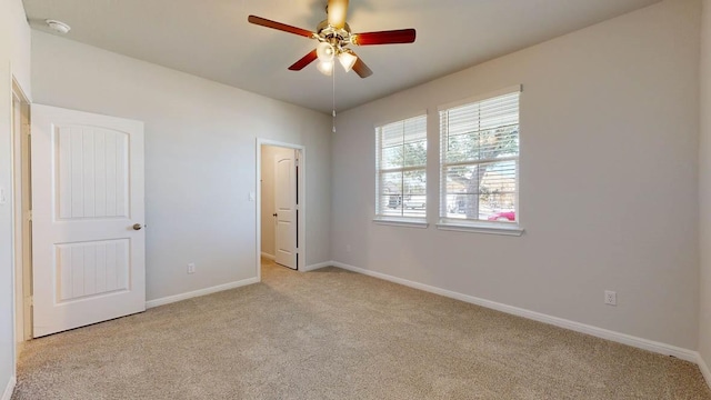
[[711, 399], [697, 366], [373, 278], [263, 282], [34, 340], [12, 399]]

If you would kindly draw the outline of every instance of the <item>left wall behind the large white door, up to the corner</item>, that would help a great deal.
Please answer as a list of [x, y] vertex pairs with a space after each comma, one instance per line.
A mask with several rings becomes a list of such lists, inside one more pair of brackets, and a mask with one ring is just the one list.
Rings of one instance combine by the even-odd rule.
[[327, 210], [307, 210], [307, 264], [329, 260], [328, 116], [47, 33], [32, 39], [37, 103], [146, 122], [149, 300], [256, 277], [257, 137], [307, 147], [307, 207]]

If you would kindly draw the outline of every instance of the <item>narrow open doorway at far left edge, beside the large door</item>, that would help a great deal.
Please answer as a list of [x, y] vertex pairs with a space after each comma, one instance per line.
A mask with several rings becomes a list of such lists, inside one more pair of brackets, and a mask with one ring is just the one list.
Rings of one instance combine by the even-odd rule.
[[30, 103], [12, 82], [12, 208], [14, 263], [14, 338], [18, 348], [32, 338], [32, 197], [30, 192]]

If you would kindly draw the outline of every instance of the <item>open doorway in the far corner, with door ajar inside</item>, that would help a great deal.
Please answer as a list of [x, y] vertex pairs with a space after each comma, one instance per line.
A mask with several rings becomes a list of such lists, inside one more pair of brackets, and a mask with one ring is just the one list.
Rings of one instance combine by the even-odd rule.
[[261, 260], [304, 266], [303, 147], [258, 140], [258, 277]]

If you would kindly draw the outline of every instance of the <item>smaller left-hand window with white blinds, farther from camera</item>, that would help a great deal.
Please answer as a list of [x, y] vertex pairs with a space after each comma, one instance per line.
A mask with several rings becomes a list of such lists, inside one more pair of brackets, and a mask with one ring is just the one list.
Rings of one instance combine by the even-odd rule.
[[427, 116], [375, 128], [377, 219], [427, 217]]

